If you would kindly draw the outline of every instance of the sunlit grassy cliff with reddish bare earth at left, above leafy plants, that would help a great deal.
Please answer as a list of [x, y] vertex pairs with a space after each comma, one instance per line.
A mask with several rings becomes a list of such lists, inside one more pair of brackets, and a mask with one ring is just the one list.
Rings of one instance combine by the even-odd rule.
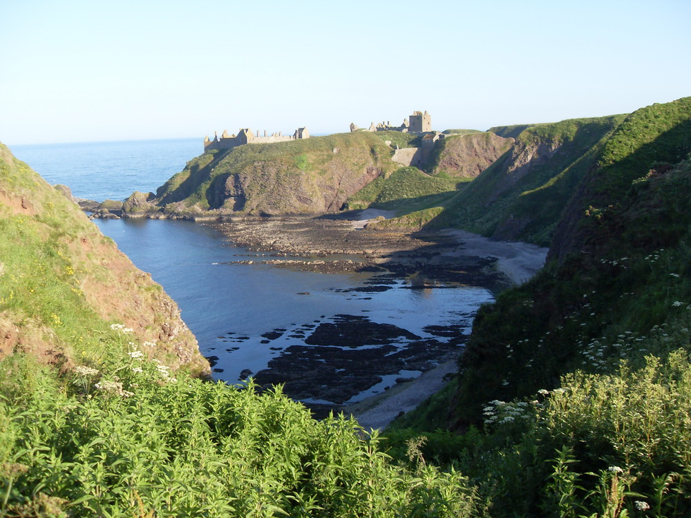
[[21, 352], [67, 368], [134, 346], [209, 372], [160, 285], [0, 144], [0, 357]]

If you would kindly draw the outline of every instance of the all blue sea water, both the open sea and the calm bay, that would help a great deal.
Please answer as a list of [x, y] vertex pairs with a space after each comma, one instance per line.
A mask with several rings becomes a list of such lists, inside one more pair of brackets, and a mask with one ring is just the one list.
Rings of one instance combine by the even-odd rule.
[[[202, 140], [30, 144], [11, 151], [50, 184], [68, 186], [77, 198], [124, 200], [133, 191], [155, 192], [202, 153]], [[238, 264], [256, 253], [228, 242], [216, 224], [146, 219], [94, 223], [178, 303], [200, 351], [211, 359], [214, 378], [227, 383], [242, 383], [248, 374], [267, 369], [291, 347], [309, 347], [310, 329], [345, 317], [396, 326], [422, 340], [443, 340], [434, 329], [455, 326], [469, 332], [477, 308], [493, 300], [492, 292], [480, 285], [417, 289], [413, 279], [401, 277], [372, 291], [367, 287], [373, 274], [297, 271], [263, 264], [262, 256], [251, 265]], [[405, 340], [399, 338], [395, 345], [405, 347]], [[386, 390], [401, 376], [419, 374], [382, 373], [348, 402]]]

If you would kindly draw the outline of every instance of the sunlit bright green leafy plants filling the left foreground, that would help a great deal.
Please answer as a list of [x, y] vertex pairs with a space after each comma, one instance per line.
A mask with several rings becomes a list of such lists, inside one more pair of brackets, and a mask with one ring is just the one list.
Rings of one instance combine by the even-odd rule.
[[460, 473], [396, 466], [353, 419], [172, 373], [145, 349], [66, 377], [0, 363], [0, 515], [477, 514]]

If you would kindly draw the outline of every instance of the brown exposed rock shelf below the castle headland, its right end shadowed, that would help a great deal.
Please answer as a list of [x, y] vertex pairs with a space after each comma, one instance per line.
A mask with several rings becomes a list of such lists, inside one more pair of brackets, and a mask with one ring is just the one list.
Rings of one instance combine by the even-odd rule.
[[345, 213], [247, 218], [212, 225], [230, 242], [256, 253], [252, 258], [238, 259], [237, 264], [262, 262], [325, 273], [390, 272], [425, 280], [481, 284], [493, 290], [510, 282], [493, 268], [497, 258], [464, 253], [457, 237], [446, 231], [370, 229], [368, 220], [358, 216]]

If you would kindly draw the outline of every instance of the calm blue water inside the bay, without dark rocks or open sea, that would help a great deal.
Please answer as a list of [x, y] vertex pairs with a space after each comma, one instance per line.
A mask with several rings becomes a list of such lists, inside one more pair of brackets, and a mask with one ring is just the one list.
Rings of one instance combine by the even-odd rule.
[[[469, 331], [477, 307], [491, 300], [489, 291], [482, 287], [410, 289], [412, 281], [397, 279], [390, 281], [393, 284], [386, 291], [357, 292], [348, 289], [363, 286], [372, 274], [321, 274], [261, 263], [229, 264], [238, 256], [245, 259], [254, 253], [229, 246], [208, 224], [180, 220], [95, 222], [176, 300], [202, 354], [217, 357], [214, 377], [230, 383], [237, 382], [243, 370], [256, 374], [266, 368], [272, 356], [286, 347], [305, 345], [308, 329], [333, 322], [337, 315], [367, 316], [374, 323], [439, 339], [425, 328], [462, 325]], [[261, 257], [254, 260], [261, 261]], [[262, 336], [276, 329], [285, 331], [279, 331], [281, 336], [272, 340]], [[400, 343], [406, 341], [410, 340]], [[366, 347], [377, 345], [362, 346]], [[386, 379], [392, 384], [395, 377]], [[384, 390], [384, 386], [374, 390]]]

